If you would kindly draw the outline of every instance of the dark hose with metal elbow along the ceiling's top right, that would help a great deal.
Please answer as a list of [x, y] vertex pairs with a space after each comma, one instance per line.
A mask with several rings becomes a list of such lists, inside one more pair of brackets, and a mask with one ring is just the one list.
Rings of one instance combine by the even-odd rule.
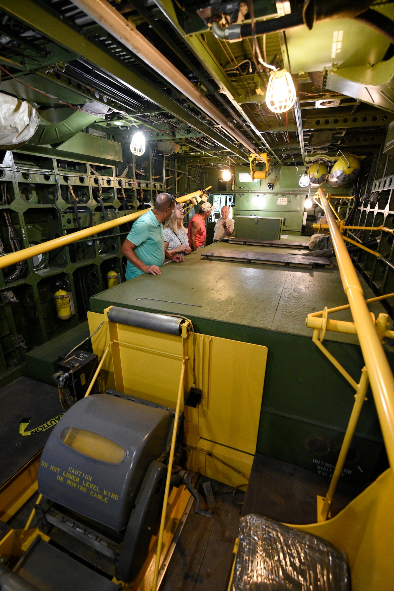
[[[279, 31], [286, 31], [293, 27], [300, 27], [300, 25], [306, 25], [311, 30], [315, 22], [357, 18], [357, 20], [384, 35], [391, 43], [394, 43], [393, 21], [380, 12], [370, 10], [368, 8], [370, 4], [370, 0], [348, 0], [347, 2], [343, 2], [343, 0], [334, 0], [333, 2], [306, 0], [302, 11], [291, 12], [285, 14], [284, 17], [255, 22], [255, 34], [279, 33]], [[239, 41], [253, 37], [251, 22], [244, 25], [229, 25], [225, 29], [221, 28], [218, 22], [212, 22], [212, 33], [217, 39], [223, 41]]]

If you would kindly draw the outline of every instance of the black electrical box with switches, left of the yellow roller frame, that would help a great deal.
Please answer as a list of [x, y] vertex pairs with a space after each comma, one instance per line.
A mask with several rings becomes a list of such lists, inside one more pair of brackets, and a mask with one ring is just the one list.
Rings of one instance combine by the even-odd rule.
[[76, 350], [71, 355], [59, 356], [57, 369], [70, 376], [67, 380], [67, 388], [75, 402], [81, 400], [86, 394], [97, 364], [97, 355], [88, 351]]

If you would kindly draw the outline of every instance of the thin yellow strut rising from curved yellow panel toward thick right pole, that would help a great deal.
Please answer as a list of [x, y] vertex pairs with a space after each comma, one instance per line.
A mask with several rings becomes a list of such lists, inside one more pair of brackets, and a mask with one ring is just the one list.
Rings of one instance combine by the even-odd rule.
[[347, 452], [349, 452], [350, 443], [352, 443], [354, 431], [356, 431], [357, 421], [359, 420], [361, 409], [363, 408], [363, 402], [367, 393], [368, 384], [368, 372], [366, 368], [363, 368], [360, 383], [357, 384], [356, 388], [356, 400], [354, 400], [352, 414], [350, 415], [349, 423], [346, 427], [346, 433], [342, 441], [342, 447], [339, 452], [337, 464], [335, 466], [333, 477], [331, 478], [330, 488], [327, 491], [326, 497], [324, 498], [323, 509], [321, 509], [321, 517], [323, 517], [324, 521], [326, 521], [327, 515], [330, 512], [331, 503], [333, 502], [337, 484], [342, 474]]

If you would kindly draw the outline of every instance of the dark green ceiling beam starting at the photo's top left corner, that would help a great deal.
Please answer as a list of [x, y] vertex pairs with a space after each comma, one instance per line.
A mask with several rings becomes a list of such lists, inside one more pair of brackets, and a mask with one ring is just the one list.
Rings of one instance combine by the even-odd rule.
[[54, 41], [54, 43], [87, 59], [94, 66], [115, 77], [120, 83], [129, 87], [138, 95], [143, 96], [166, 112], [172, 113], [181, 121], [198, 129], [225, 150], [229, 150], [246, 160], [245, 153], [236, 148], [234, 142], [212, 129], [212, 126], [205, 124], [198, 116], [193, 115], [188, 109], [153, 86], [145, 77], [122, 64], [116, 57], [111, 56], [103, 48], [81, 35], [79, 31], [62, 22], [60, 18], [51, 14], [51, 12], [46, 11], [41, 4], [35, 4], [32, 0], [0, 0], [0, 9], [11, 17], [25, 22], [29, 27]]

